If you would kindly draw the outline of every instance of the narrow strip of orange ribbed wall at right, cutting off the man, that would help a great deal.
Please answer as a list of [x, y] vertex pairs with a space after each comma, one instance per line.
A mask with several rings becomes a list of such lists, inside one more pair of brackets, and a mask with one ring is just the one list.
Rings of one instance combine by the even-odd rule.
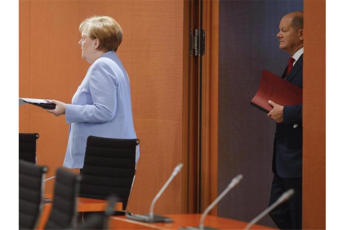
[[305, 1], [303, 229], [326, 229], [326, 1]]

